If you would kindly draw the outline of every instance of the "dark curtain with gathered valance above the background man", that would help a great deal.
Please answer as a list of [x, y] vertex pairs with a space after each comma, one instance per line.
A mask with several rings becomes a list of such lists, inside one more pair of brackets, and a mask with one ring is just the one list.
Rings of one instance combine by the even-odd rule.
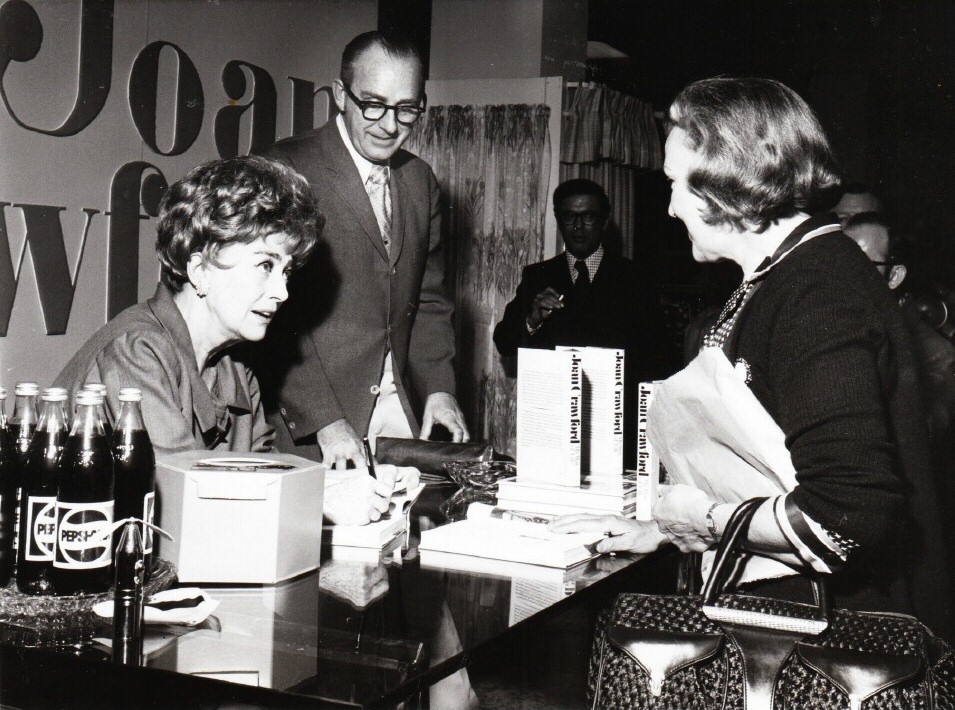
[[561, 121], [560, 179], [588, 178], [601, 185], [613, 206], [620, 253], [635, 247], [634, 176], [663, 165], [653, 108], [600, 84], [568, 90]]

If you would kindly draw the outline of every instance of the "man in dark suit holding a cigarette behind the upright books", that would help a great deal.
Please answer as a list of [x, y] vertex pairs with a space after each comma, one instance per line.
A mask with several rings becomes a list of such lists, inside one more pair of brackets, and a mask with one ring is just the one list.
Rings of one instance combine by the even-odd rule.
[[[630, 259], [604, 248], [610, 200], [591, 180], [568, 180], [554, 190], [554, 213], [565, 251], [524, 268], [517, 294], [494, 329], [506, 357], [522, 348], [556, 345], [626, 351], [625, 412], [638, 382], [663, 376], [666, 338], [660, 306], [647, 275]], [[627, 425], [632, 435], [634, 425]], [[625, 463], [634, 447], [625, 442]]]

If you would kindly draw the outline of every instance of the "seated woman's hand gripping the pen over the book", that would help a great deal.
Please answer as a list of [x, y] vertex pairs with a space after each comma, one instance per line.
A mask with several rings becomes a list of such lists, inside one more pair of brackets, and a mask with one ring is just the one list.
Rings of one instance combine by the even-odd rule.
[[[326, 471], [326, 475], [331, 472]], [[377, 478], [366, 467], [329, 478], [325, 486], [325, 517], [335, 525], [367, 525], [388, 512], [395, 488], [394, 466], [376, 468]]]

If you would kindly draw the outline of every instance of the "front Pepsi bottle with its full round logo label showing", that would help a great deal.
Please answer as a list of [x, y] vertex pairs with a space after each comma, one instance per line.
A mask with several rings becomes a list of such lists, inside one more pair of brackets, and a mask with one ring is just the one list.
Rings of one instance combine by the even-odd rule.
[[80, 392], [73, 428], [57, 466], [58, 594], [105, 592], [112, 585], [113, 454], [96, 409], [96, 392]]

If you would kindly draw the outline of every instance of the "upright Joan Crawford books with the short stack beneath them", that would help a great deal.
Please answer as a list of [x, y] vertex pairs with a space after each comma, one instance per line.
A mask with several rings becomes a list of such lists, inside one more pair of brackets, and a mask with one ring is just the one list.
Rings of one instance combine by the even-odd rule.
[[[634, 385], [637, 421], [624, 421], [625, 355], [610, 348], [521, 349], [517, 360], [517, 478], [498, 507], [534, 515], [649, 520], [659, 463], [646, 436], [654, 383]], [[637, 470], [624, 471], [624, 427], [637, 431]]]

